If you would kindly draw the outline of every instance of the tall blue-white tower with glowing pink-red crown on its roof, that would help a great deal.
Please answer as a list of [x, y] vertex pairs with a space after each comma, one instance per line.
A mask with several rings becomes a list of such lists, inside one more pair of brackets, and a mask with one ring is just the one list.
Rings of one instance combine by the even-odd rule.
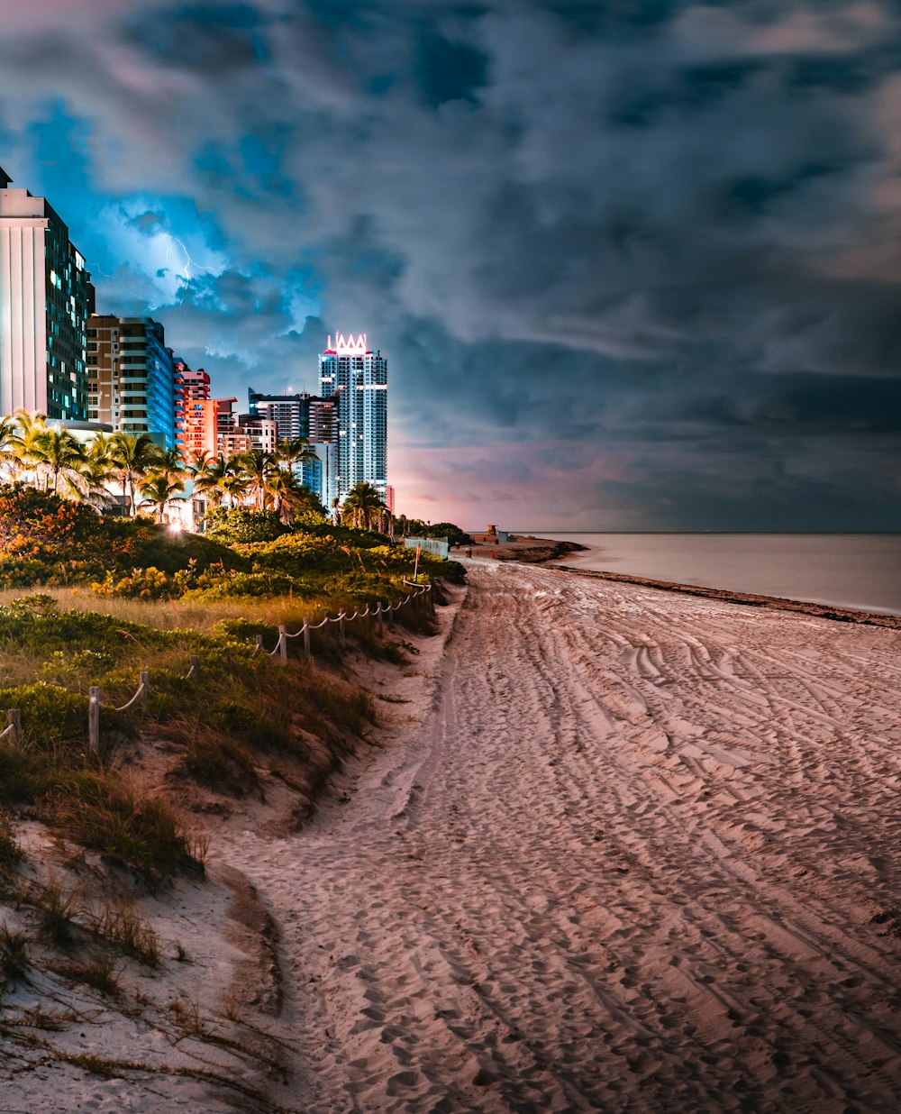
[[320, 354], [320, 394], [337, 402], [336, 495], [371, 483], [382, 498], [388, 487], [388, 360], [354, 340], [335, 335]]

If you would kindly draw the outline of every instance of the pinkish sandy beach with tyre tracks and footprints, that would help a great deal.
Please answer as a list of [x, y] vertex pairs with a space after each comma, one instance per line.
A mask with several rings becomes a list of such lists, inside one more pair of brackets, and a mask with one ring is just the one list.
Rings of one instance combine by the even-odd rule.
[[232, 856], [283, 925], [294, 1103], [897, 1108], [899, 646], [473, 565], [431, 706]]

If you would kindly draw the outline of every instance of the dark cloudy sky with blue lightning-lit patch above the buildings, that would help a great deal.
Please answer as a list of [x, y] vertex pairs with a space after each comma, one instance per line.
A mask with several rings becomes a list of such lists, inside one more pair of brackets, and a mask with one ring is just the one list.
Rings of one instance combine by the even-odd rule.
[[0, 166], [217, 397], [389, 361], [396, 509], [901, 528], [897, 0], [0, 0]]

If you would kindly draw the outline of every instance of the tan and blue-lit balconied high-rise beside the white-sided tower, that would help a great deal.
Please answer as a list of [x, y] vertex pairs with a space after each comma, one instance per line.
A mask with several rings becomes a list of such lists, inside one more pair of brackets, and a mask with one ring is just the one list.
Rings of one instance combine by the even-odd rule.
[[149, 433], [170, 449], [177, 439], [175, 381], [172, 350], [158, 321], [104, 314], [88, 320], [91, 421], [128, 433]]

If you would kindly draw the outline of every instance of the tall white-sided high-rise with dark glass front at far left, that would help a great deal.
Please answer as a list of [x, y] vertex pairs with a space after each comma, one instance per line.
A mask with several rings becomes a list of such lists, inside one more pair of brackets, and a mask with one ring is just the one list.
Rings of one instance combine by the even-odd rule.
[[49, 202], [10, 180], [0, 169], [0, 412], [85, 421], [90, 274]]

